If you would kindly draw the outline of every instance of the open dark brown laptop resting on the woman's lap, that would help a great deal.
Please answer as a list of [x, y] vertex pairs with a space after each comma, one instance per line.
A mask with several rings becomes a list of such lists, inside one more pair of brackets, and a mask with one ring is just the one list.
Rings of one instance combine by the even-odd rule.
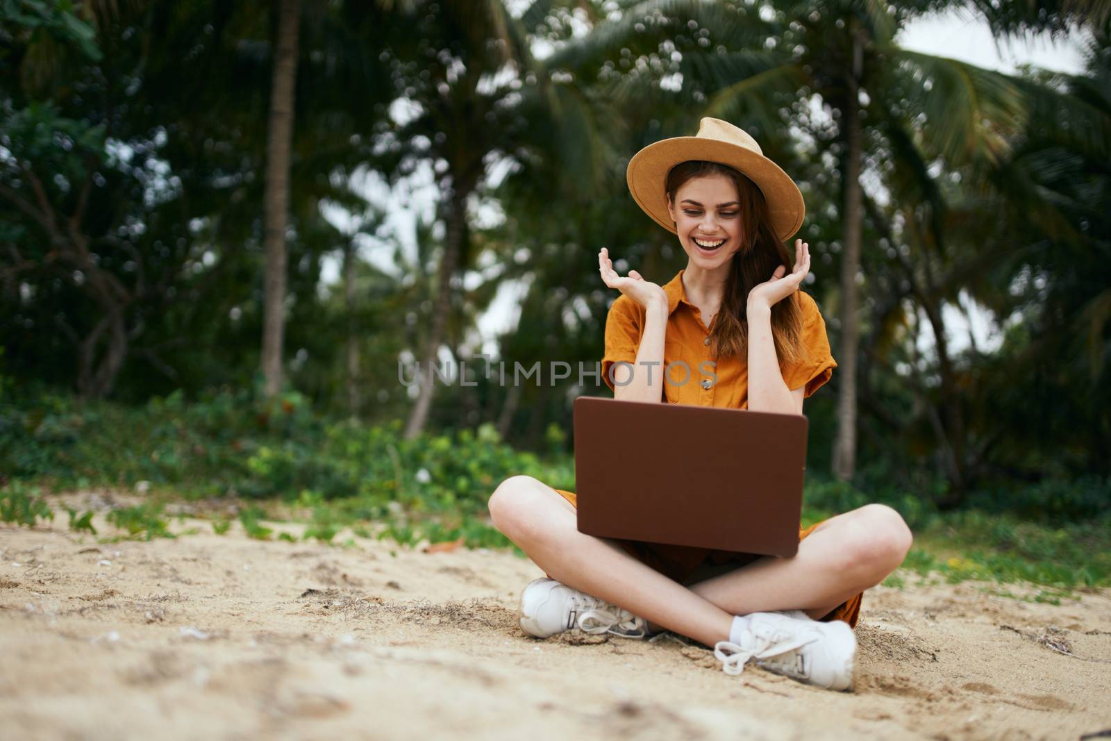
[[805, 417], [579, 397], [573, 418], [580, 532], [798, 552]]

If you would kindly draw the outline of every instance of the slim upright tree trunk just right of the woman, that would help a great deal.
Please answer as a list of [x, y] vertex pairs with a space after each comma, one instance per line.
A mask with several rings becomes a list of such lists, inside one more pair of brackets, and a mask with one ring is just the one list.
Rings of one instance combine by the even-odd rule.
[[848, 152], [844, 163], [844, 251], [841, 256], [841, 352], [838, 374], [838, 430], [833, 441], [833, 474], [847, 481], [857, 467], [857, 271], [860, 269], [860, 160], [862, 131], [860, 123], [859, 82], [860, 56], [863, 48], [859, 34], [852, 37], [852, 73], [848, 77], [848, 100], [843, 120]]

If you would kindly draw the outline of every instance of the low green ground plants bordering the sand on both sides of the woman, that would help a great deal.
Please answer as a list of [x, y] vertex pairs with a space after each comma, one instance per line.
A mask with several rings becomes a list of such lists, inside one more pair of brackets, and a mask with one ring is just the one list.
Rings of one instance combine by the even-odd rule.
[[[6, 409], [0, 469], [13, 478], [3, 489], [0, 512], [24, 524], [52, 514], [32, 484], [64, 489], [150, 481], [187, 497], [257, 498], [239, 520], [249, 537], [261, 540], [274, 537], [263, 524], [263, 505], [283, 500], [304, 513], [307, 540], [331, 543], [350, 528], [360, 538], [402, 545], [462, 539], [468, 548], [507, 548], [511, 543], [491, 527], [486, 509], [498, 483], [529, 474], [574, 489], [570, 455], [557, 449], [542, 460], [514, 451], [490, 425], [406, 441], [400, 423], [329, 420], [296, 394], [269, 403], [242, 392], [214, 393], [197, 403], [171, 394], [133, 409], [44, 395]], [[1111, 583], [1104, 480], [979, 492], [972, 498], [977, 509], [955, 512], [933, 504], [944, 488], [939, 477], [919, 482], [919, 491], [933, 494], [908, 492], [879, 465], [862, 471], [855, 484], [812, 475], [803, 521], [885, 503], [912, 525], [915, 544], [904, 568], [923, 578], [1029, 581], [1053, 589]], [[1009, 505], [1015, 511], [1008, 512]], [[170, 537], [160, 503], [118, 509], [108, 520], [129, 537]], [[93, 532], [91, 512], [71, 511], [70, 527], [84, 525]], [[224, 534], [230, 525], [214, 520], [212, 531]], [[903, 573], [888, 583], [898, 585]]]

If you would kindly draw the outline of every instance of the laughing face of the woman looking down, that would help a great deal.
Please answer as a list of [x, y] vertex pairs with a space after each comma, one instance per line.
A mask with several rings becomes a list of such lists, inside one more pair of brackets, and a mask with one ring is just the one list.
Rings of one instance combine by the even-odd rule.
[[727, 264], [741, 248], [740, 209], [737, 187], [722, 176], [691, 178], [668, 202], [679, 242], [704, 270]]

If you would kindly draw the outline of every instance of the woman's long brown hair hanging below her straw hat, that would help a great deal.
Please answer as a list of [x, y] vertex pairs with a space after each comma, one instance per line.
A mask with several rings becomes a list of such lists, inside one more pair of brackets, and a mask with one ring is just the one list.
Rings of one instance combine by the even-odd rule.
[[[714, 176], [728, 178], [737, 187], [737, 200], [741, 203], [741, 248], [729, 261], [725, 293], [721, 298], [721, 308], [718, 309], [710, 338], [717, 356], [737, 353], [738, 358], [747, 360], [749, 291], [771, 278], [779, 266], [785, 266], [790, 270], [793, 262], [787, 246], [771, 228], [763, 191], [728, 164], [702, 160], [680, 162], [668, 172], [668, 201], [674, 206], [675, 193], [688, 180]], [[790, 296], [772, 306], [771, 333], [780, 366], [799, 362], [807, 357], [797, 297]]]

